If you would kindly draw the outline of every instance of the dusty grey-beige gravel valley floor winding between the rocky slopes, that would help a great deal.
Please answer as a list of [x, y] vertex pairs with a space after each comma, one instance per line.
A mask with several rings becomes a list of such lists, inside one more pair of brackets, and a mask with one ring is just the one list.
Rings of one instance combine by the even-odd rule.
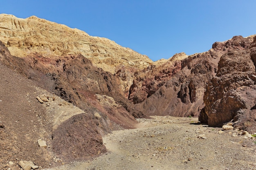
[[[200, 125], [197, 120], [169, 116], [137, 119], [137, 129], [103, 137], [108, 153], [51, 170], [256, 169], [255, 139], [245, 139], [236, 130], [220, 134], [222, 128]], [[206, 139], [199, 139], [203, 134]]]

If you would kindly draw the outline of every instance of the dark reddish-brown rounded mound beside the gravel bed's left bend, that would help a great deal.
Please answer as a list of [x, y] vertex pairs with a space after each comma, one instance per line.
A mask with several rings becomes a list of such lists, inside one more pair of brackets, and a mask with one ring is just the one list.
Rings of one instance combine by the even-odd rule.
[[88, 160], [106, 152], [92, 117], [85, 113], [63, 122], [53, 135], [53, 150], [64, 161]]

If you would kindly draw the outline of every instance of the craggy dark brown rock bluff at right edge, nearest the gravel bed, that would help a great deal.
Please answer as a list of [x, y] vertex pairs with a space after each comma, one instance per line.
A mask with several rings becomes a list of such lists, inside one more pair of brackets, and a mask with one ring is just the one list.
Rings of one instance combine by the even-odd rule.
[[[199, 120], [210, 126], [222, 126], [233, 120], [234, 126], [246, 128], [256, 122], [255, 105], [255, 37], [236, 36], [223, 43], [213, 44], [213, 49], [227, 53], [220, 58], [216, 77], [204, 93], [205, 107]], [[216, 50], [215, 49], [215, 50]]]

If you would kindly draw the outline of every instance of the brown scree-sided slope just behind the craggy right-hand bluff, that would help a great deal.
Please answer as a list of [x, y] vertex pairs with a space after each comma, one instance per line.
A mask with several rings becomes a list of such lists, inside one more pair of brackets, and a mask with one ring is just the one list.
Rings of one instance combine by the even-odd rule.
[[218, 60], [219, 55], [210, 50], [176, 61], [177, 73], [137, 105], [148, 115], [198, 116], [204, 107], [206, 84], [216, 74]]

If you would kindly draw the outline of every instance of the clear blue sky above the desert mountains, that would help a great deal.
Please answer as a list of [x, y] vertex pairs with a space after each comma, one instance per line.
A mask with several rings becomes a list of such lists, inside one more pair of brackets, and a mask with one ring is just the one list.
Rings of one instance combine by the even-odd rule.
[[256, 34], [256, 0], [1, 0], [0, 13], [81, 29], [153, 61]]

